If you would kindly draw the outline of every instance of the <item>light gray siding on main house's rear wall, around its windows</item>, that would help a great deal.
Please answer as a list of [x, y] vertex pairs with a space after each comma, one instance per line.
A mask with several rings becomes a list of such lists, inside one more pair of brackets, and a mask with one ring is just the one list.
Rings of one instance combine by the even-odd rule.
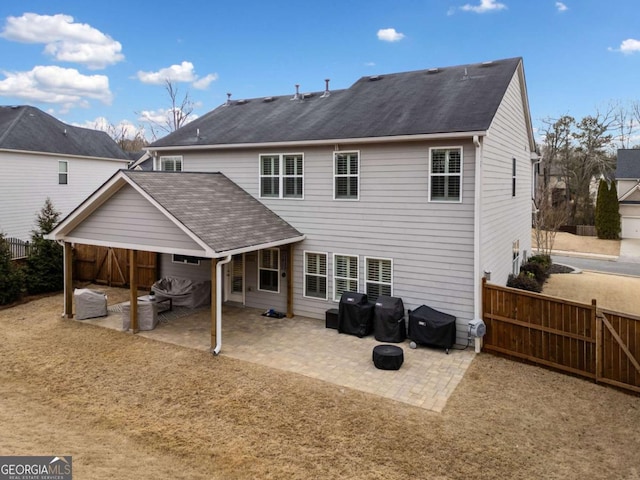
[[[462, 203], [429, 202], [429, 147], [463, 147]], [[294, 311], [324, 318], [335, 308], [333, 254], [359, 258], [359, 291], [365, 288], [365, 257], [393, 260], [394, 296], [405, 308], [422, 304], [458, 317], [473, 316], [473, 202], [475, 148], [471, 139], [438, 143], [340, 145], [360, 152], [360, 199], [333, 200], [333, 147], [260, 149], [185, 154], [191, 171], [220, 171], [258, 197], [258, 156], [304, 152], [304, 200], [261, 201], [306, 235], [294, 249]], [[328, 254], [329, 300], [303, 296], [303, 251]], [[257, 266], [246, 261], [247, 285]], [[252, 273], [256, 272], [256, 273]], [[257, 292], [257, 290], [256, 290]], [[251, 293], [252, 295], [249, 295]], [[276, 307], [274, 294], [261, 307]], [[285, 291], [281, 287], [280, 301]], [[255, 298], [253, 292], [247, 299]], [[249, 303], [249, 300], [247, 300]], [[459, 329], [460, 330], [460, 329]]]

